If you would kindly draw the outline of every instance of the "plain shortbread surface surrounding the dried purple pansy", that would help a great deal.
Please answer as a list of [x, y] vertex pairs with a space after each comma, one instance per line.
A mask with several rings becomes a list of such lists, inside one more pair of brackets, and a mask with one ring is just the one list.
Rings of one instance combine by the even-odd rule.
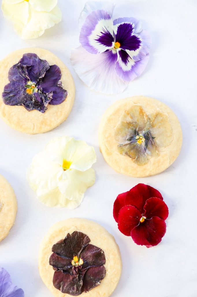
[[42, 48], [24, 48], [10, 53], [0, 61], [0, 93], [4, 86], [9, 83], [8, 71], [10, 67], [17, 64], [24, 53], [35, 53], [42, 60], [46, 60], [49, 65], [56, 64], [62, 72], [62, 86], [67, 90], [67, 98], [59, 105], [47, 105], [45, 113], [38, 110], [28, 111], [23, 106], [11, 106], [4, 104], [0, 98], [0, 117], [12, 128], [28, 133], [37, 134], [47, 132], [59, 126], [65, 121], [72, 109], [75, 99], [75, 84], [72, 75], [64, 63], [49, 50]]

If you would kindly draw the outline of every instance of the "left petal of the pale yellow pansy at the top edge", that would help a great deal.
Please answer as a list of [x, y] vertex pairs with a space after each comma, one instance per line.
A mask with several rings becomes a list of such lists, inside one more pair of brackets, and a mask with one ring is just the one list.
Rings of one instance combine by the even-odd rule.
[[13, 23], [20, 24], [22, 26], [25, 26], [28, 22], [28, 7], [29, 4], [26, 1], [22, 1], [20, 3], [16, 4], [9, 4], [7, 1], [2, 1], [2, 10], [4, 13], [4, 16], [12, 21]]

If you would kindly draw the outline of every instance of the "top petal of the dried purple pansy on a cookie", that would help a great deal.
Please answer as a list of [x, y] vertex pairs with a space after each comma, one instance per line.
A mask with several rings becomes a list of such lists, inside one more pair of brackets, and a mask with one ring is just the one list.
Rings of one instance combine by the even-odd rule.
[[46, 70], [50, 67], [46, 60], [39, 59], [39, 57], [34, 53], [24, 54], [19, 63], [31, 66], [27, 72], [30, 80], [34, 83], [36, 83], [39, 78], [42, 78], [45, 75]]

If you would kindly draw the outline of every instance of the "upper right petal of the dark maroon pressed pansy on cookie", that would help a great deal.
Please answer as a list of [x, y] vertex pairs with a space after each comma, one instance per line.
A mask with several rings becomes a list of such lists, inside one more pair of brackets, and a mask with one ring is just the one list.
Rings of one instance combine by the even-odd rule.
[[80, 254], [80, 259], [83, 260], [82, 270], [92, 266], [100, 266], [105, 264], [105, 254], [102, 249], [95, 245], [88, 244]]

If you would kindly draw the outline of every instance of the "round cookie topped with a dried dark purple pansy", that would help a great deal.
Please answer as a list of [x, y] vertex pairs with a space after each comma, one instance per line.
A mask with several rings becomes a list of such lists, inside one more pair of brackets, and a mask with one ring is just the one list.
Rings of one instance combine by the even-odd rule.
[[65, 121], [75, 84], [64, 63], [41, 48], [24, 48], [0, 61], [0, 117], [28, 134], [47, 132]]

